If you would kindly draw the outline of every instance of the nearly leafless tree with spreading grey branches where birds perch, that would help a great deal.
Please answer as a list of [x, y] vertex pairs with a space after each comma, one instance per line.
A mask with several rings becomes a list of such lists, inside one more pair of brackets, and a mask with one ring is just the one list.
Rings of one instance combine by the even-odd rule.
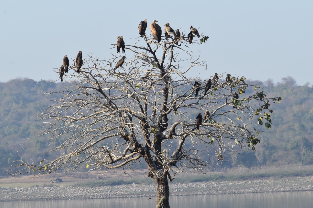
[[[185, 50], [186, 35], [162, 44], [144, 38], [146, 46], [137, 46], [139, 42], [126, 46], [132, 57], [128, 55], [131, 58], [115, 71], [120, 57], [101, 60], [90, 55], [80, 74], [64, 75], [70, 86], [50, 92], [54, 104], [38, 115], [44, 122], [38, 136], [49, 138], [51, 151], [59, 156], [39, 164], [21, 158], [15, 161], [13, 175], [66, 172], [82, 165], [90, 170], [133, 170], [134, 163], [145, 161], [147, 176], [157, 184], [156, 207], [168, 208], [168, 180], [176, 173], [205, 173], [229, 153], [247, 146], [255, 149], [259, 142], [255, 127], [262, 125], [262, 118], [270, 127], [270, 102], [280, 97], [265, 98], [264, 89], [245, 83], [244, 77], [226, 81], [225, 73], [218, 74], [204, 96], [207, 80], [186, 75], [206, 67]], [[181, 60], [181, 53], [189, 58]], [[200, 85], [197, 97], [195, 81]], [[246, 95], [249, 87], [254, 91]], [[238, 99], [233, 98], [235, 93]], [[210, 114], [198, 130], [195, 117], [207, 110]], [[206, 159], [212, 151], [215, 160]]]

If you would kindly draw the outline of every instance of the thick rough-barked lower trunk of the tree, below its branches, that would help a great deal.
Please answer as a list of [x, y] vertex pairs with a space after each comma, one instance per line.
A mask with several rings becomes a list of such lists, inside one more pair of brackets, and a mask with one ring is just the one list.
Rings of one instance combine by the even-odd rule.
[[170, 190], [166, 174], [162, 177], [156, 177], [154, 180], [157, 184], [156, 208], [170, 208], [170, 204], [168, 202]]

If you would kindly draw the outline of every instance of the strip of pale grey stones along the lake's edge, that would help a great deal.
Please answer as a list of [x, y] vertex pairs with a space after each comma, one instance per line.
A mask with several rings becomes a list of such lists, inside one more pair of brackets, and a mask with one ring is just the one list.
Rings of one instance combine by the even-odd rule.
[[[203, 181], [170, 183], [171, 196], [264, 193], [282, 191], [313, 191], [313, 176], [284, 178], [280, 180]], [[36, 186], [0, 188], [0, 201], [103, 199], [124, 197], [153, 197], [154, 184], [127, 184], [101, 187]]]

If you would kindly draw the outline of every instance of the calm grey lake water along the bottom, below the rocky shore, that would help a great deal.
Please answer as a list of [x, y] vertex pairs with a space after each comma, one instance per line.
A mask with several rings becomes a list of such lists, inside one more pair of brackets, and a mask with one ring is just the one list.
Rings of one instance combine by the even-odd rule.
[[[228, 194], [171, 196], [172, 208], [210, 207], [210, 208], [300, 208], [312, 207], [313, 191], [294, 191], [280, 193]], [[0, 202], [1, 208], [120, 208], [155, 207], [155, 197], [95, 199], [95, 200], [51, 200], [51, 201], [9, 201]]]

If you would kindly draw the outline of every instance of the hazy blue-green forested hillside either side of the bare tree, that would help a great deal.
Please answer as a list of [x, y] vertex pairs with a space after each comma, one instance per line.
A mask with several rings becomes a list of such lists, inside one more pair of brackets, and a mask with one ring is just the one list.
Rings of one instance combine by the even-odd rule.
[[[251, 82], [251, 81], [247, 81]], [[260, 86], [265, 83], [253, 81]], [[15, 79], [0, 83], [0, 175], [10, 169], [17, 151], [28, 161], [49, 160], [49, 141], [34, 137], [41, 126], [36, 114], [49, 106], [49, 94], [67, 83], [35, 82]], [[229, 156], [224, 166], [267, 166], [284, 164], [313, 164], [313, 88], [296, 86], [291, 77], [278, 84], [269, 83], [266, 92], [282, 97], [280, 104], [272, 105], [271, 129], [260, 132], [261, 143], [256, 151], [246, 151], [237, 158]], [[268, 95], [270, 96], [270, 95]], [[192, 116], [197, 112], [190, 112]]]

